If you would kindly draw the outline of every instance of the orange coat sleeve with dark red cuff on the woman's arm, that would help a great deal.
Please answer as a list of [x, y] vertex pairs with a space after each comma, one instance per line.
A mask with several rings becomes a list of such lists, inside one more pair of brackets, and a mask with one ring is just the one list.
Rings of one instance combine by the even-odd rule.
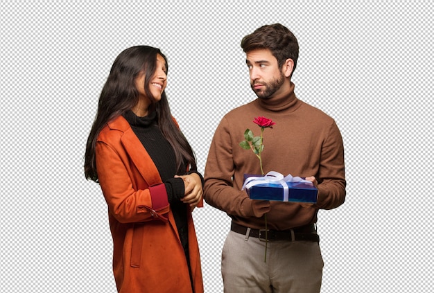
[[134, 186], [126, 154], [118, 152], [111, 145], [96, 143], [96, 170], [98, 181], [110, 213], [121, 223], [167, 221], [168, 197], [164, 184]]

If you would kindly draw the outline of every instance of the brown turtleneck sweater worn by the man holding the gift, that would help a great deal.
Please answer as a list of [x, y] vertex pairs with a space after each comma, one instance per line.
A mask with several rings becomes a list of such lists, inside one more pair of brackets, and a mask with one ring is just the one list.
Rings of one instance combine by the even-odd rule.
[[268, 228], [285, 230], [316, 222], [318, 208], [331, 209], [345, 200], [345, 168], [342, 136], [333, 118], [298, 100], [291, 83], [288, 95], [256, 100], [233, 109], [218, 125], [205, 167], [205, 201], [225, 211], [234, 222], [263, 229], [263, 218], [254, 217], [252, 200], [242, 191], [243, 175], [261, 174], [259, 159], [238, 143], [246, 128], [254, 136], [261, 128], [253, 123], [265, 116], [276, 124], [263, 132], [263, 172], [284, 176], [315, 176], [318, 203], [305, 207], [292, 202], [271, 202]]

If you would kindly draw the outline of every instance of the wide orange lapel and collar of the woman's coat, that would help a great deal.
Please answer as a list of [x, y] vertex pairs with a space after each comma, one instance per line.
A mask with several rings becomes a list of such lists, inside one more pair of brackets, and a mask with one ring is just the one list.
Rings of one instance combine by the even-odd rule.
[[141, 177], [143, 177], [148, 184], [148, 186], [153, 186], [155, 184], [161, 184], [162, 179], [159, 176], [159, 172], [153, 159], [150, 158], [148, 152], [144, 148], [143, 144], [139, 138], [134, 134], [128, 121], [119, 116], [114, 119], [114, 121], [108, 123], [108, 126], [112, 130], [119, 130], [123, 132], [121, 136], [121, 143], [125, 152], [131, 158], [132, 163], [139, 170]]

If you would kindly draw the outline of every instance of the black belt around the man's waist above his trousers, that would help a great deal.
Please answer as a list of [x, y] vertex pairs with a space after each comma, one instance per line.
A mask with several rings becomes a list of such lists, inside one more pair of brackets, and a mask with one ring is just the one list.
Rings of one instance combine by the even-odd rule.
[[[231, 230], [247, 236], [248, 227], [241, 226], [232, 222]], [[251, 229], [249, 232], [249, 237], [259, 238], [261, 241], [268, 240], [288, 240], [288, 241], [313, 241], [320, 242], [320, 236], [315, 232], [315, 224], [309, 224], [302, 227], [297, 227], [288, 230], [270, 230], [268, 229]], [[266, 236], [267, 234], [267, 236]]]

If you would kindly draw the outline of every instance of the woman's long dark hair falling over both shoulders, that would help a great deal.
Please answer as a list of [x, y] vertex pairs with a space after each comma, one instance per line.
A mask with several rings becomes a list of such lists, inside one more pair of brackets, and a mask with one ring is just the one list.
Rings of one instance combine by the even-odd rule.
[[196, 159], [193, 150], [173, 121], [166, 92], [163, 91], [162, 98], [158, 102], [154, 100], [150, 92], [149, 83], [155, 74], [157, 54], [161, 55], [166, 61], [167, 72], [166, 56], [158, 48], [150, 46], [127, 48], [114, 60], [110, 75], [101, 91], [98, 101], [98, 112], [87, 138], [85, 153], [86, 179], [98, 182], [95, 161], [96, 139], [109, 121], [112, 121], [137, 105], [139, 93], [135, 87], [135, 80], [141, 72], [145, 73], [145, 93], [151, 100], [150, 107], [157, 112], [158, 127], [175, 151], [177, 169], [179, 172], [182, 172], [184, 170], [180, 170], [181, 166], [190, 165], [193, 170], [196, 170]]

